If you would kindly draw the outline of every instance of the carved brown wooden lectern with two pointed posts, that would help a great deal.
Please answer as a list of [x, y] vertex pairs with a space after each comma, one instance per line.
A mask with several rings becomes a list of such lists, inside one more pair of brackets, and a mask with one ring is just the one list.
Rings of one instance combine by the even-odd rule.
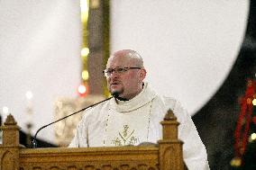
[[105, 148], [24, 148], [19, 127], [8, 115], [0, 145], [0, 170], [183, 170], [182, 141], [178, 122], [169, 111], [164, 120], [163, 139], [157, 146]]

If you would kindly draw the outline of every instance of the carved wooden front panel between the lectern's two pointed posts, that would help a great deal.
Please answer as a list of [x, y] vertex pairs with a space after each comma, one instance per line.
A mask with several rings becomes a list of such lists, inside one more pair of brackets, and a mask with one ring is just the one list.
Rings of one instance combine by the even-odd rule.
[[21, 149], [23, 170], [153, 170], [159, 169], [158, 148], [40, 148]]

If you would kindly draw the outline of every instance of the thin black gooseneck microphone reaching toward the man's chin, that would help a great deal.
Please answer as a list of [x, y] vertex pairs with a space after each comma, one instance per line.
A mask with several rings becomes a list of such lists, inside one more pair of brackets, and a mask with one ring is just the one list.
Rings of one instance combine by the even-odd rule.
[[[103, 100], [103, 101], [101, 101], [101, 102], [99, 102], [99, 103], [104, 103], [105, 101], [108, 101], [108, 100], [110, 100], [110, 99], [112, 99], [112, 98], [113, 98], [113, 97], [107, 98], [107, 99], [105, 99], [105, 100]], [[89, 106], [87, 106], [86, 108], [83, 108], [83, 109], [79, 110], [78, 112], [85, 111], [85, 110], [87, 110], [88, 108], [94, 107], [94, 106], [96, 106], [96, 105], [99, 104], [99, 103], [94, 103], [94, 104], [92, 104], [92, 105], [89, 105]], [[73, 113], [69, 114], [68, 116], [65, 116], [65, 117], [63, 117], [63, 118], [60, 118], [60, 119], [57, 120], [57, 121], [53, 121], [53, 122], [51, 122], [51, 123], [49, 123], [49, 124], [46, 124], [46, 125], [42, 126], [39, 130], [36, 131], [36, 133], [35, 133], [35, 135], [34, 135], [34, 138], [33, 138], [33, 140], [32, 140], [32, 148], [37, 148], [36, 136], [37, 136], [37, 134], [38, 134], [39, 131], [41, 131], [42, 129], [44, 129], [44, 128], [50, 126], [51, 124], [54, 124], [54, 123], [56, 123], [56, 122], [58, 122], [58, 121], [62, 121], [62, 120], [64, 120], [64, 119], [66, 119], [66, 118], [69, 118], [70, 116], [73, 116], [74, 114], [77, 114], [78, 112], [73, 112]]]

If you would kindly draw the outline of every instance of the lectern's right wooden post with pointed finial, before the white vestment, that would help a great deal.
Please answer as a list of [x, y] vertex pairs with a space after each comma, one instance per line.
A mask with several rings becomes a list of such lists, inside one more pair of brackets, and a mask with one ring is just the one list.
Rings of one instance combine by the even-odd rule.
[[183, 170], [182, 144], [178, 139], [178, 121], [171, 110], [166, 114], [162, 125], [163, 137], [159, 143], [160, 170]]

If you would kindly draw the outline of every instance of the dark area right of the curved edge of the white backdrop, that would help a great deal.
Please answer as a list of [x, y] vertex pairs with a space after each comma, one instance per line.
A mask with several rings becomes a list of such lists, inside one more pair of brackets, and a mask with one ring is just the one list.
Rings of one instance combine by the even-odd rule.
[[238, 100], [244, 94], [247, 79], [255, 80], [255, 57], [256, 1], [251, 0], [242, 48], [231, 72], [211, 100], [192, 118], [206, 145], [209, 165], [213, 170], [233, 169], [230, 161], [234, 157], [233, 133], [240, 112]]

